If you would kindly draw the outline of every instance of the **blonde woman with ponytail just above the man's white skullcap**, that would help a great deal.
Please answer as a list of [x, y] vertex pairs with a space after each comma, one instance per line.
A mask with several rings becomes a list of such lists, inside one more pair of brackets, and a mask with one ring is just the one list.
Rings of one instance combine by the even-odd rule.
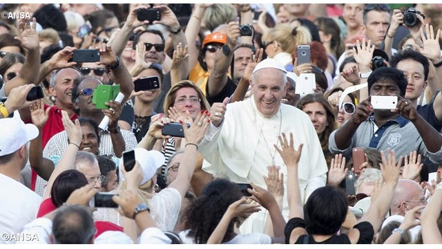
[[310, 42], [311, 34], [307, 28], [292, 28], [290, 24], [278, 24], [262, 36], [262, 47], [267, 56], [276, 59], [287, 71], [291, 71], [294, 48]]

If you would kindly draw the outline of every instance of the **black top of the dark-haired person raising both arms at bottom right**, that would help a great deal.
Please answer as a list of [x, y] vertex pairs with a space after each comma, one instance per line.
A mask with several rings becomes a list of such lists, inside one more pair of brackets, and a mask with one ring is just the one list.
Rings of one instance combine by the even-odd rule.
[[[285, 243], [289, 243], [291, 231], [295, 228], [304, 228], [306, 224], [303, 219], [300, 218], [292, 218], [285, 225], [284, 233], [285, 233]], [[371, 223], [367, 221], [363, 221], [361, 223], [357, 223], [353, 228], [359, 230], [359, 239], [358, 244], [371, 244], [374, 237], [374, 230]], [[333, 235], [322, 242], [314, 241], [311, 235], [301, 235], [298, 237], [298, 240], [295, 242], [296, 244], [351, 244], [347, 234]]]

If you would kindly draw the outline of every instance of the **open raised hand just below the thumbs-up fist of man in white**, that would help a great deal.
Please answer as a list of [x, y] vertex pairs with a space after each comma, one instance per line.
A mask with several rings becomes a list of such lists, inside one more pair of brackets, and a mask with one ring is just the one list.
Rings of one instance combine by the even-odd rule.
[[209, 111], [200, 111], [190, 128], [187, 128], [186, 123], [180, 121], [187, 143], [200, 144], [202, 138], [206, 135], [207, 128], [209, 128], [209, 116]]

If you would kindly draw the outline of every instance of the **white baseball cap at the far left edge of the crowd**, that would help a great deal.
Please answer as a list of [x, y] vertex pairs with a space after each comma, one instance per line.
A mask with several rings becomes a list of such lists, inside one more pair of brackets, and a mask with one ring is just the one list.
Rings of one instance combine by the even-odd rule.
[[14, 153], [37, 136], [39, 129], [34, 124], [25, 124], [19, 118], [1, 118], [0, 156]]

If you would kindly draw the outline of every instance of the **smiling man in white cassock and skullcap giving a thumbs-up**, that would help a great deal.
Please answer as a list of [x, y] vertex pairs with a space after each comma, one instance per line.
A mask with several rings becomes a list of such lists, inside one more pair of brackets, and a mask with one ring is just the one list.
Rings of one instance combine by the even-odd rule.
[[[258, 63], [251, 76], [253, 95], [249, 99], [227, 106], [225, 102], [213, 104], [211, 125], [199, 151], [204, 157], [204, 171], [235, 183], [251, 181], [266, 189], [262, 176], [267, 176], [267, 166], [280, 166], [280, 172], [285, 175], [282, 214], [287, 220], [287, 168], [273, 147], [279, 146], [278, 136], [283, 132], [293, 133], [294, 147], [304, 144], [298, 173], [302, 201], [318, 187], [325, 186], [327, 163], [309, 116], [296, 107], [281, 104], [289, 88], [286, 75], [285, 68], [274, 59]], [[267, 210], [250, 216], [242, 224], [241, 232], [262, 232], [266, 213]]]

